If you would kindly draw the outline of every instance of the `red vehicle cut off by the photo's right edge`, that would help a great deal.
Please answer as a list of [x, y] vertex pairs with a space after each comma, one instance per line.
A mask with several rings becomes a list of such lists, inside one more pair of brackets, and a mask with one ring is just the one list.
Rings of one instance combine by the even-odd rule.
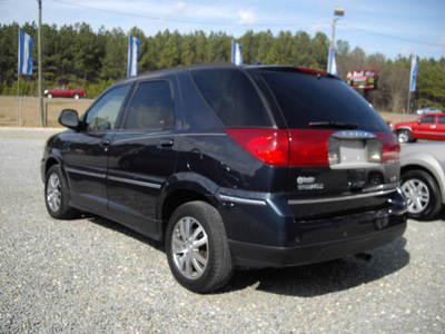
[[445, 140], [445, 114], [425, 114], [415, 121], [397, 122], [394, 127], [399, 143]]

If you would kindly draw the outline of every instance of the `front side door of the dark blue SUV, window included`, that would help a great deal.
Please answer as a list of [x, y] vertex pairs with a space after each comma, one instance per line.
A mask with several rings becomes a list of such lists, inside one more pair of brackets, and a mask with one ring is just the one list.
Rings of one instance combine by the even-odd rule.
[[130, 85], [110, 89], [82, 117], [81, 130], [63, 145], [70, 198], [76, 206], [106, 215], [108, 148]]

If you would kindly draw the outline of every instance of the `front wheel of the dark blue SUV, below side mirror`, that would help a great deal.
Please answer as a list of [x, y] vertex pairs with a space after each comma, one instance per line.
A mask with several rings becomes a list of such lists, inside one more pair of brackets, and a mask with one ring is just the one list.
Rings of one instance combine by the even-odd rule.
[[68, 219], [76, 215], [76, 209], [68, 205], [68, 186], [59, 165], [49, 168], [44, 181], [44, 203], [48, 213], [56, 219]]

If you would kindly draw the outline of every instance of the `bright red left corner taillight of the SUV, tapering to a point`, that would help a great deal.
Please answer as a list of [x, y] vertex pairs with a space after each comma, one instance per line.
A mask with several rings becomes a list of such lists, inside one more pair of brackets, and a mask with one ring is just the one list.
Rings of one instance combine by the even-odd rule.
[[227, 129], [230, 137], [256, 159], [288, 166], [289, 135], [285, 129]]

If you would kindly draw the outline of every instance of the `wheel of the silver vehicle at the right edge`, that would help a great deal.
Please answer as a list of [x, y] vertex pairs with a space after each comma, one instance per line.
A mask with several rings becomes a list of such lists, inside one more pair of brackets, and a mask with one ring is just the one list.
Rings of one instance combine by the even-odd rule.
[[409, 170], [402, 175], [402, 190], [408, 203], [408, 217], [432, 220], [442, 208], [441, 191], [435, 179], [424, 170]]

